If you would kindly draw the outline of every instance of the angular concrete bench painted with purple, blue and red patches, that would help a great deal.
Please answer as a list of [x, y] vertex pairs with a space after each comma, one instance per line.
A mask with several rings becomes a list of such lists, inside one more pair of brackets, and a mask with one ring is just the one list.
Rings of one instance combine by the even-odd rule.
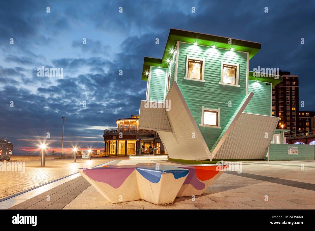
[[172, 203], [179, 196], [201, 195], [226, 168], [141, 163], [78, 170], [111, 203], [143, 199], [160, 205]]

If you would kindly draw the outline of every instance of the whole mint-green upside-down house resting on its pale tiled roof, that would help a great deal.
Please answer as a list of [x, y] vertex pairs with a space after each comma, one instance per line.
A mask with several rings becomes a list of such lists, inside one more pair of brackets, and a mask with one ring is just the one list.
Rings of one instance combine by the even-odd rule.
[[261, 43], [170, 29], [162, 58], [144, 58], [139, 129], [157, 130], [170, 158], [264, 159], [278, 124], [272, 86], [249, 71]]

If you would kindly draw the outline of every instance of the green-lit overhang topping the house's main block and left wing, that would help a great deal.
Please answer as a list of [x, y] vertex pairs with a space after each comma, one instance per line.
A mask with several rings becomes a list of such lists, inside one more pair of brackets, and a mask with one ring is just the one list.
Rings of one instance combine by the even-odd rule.
[[169, 63], [167, 60], [171, 59], [172, 52], [171, 50], [175, 50], [177, 41], [181, 42], [188, 42], [188, 43], [195, 43], [197, 42], [198, 45], [204, 46], [214, 46], [217, 48], [224, 48], [224, 49], [231, 49], [234, 48], [235, 51], [243, 51], [249, 52], [249, 59], [251, 59], [260, 49], [261, 43], [258, 42], [251, 42], [239, 39], [231, 40], [232, 44], [229, 44], [228, 37], [222, 36], [215, 36], [215, 35], [208, 35], [202, 34], [187, 30], [178, 30], [171, 28], [169, 31], [169, 37], [166, 42], [166, 46], [164, 49], [164, 53], [162, 58], [151, 58], [145, 57], [142, 69], [142, 80], [148, 80], [148, 73], [150, 66], [161, 68], [167, 68]]

